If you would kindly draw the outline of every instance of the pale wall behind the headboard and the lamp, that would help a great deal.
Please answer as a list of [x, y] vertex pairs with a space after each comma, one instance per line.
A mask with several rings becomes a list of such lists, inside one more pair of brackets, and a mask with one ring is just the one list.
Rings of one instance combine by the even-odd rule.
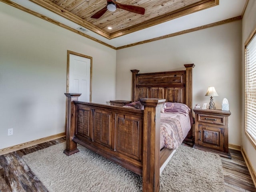
[[131, 69], [160, 72], [194, 63], [193, 106], [210, 102], [204, 96], [214, 86], [216, 108], [230, 104], [229, 143], [241, 145], [241, 20], [117, 50], [116, 99], [131, 99]]

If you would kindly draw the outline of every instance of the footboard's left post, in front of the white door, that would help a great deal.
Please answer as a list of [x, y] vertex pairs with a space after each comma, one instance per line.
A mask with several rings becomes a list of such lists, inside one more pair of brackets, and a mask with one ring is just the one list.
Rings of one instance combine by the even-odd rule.
[[76, 142], [72, 139], [75, 133], [75, 114], [76, 106], [73, 101], [78, 100], [80, 93], [65, 93], [67, 100], [67, 122], [66, 122], [66, 149], [63, 151], [70, 156], [79, 150], [76, 148]]

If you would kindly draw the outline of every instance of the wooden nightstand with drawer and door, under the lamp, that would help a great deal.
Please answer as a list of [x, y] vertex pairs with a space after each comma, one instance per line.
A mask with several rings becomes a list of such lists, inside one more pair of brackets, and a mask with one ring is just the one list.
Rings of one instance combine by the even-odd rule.
[[228, 150], [228, 116], [230, 111], [219, 109], [196, 109], [195, 144], [198, 148], [231, 158]]

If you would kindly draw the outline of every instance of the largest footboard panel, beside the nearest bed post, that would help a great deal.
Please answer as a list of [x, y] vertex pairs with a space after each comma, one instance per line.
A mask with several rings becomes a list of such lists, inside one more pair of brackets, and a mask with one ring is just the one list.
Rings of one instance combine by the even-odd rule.
[[116, 151], [142, 160], [142, 118], [116, 115]]

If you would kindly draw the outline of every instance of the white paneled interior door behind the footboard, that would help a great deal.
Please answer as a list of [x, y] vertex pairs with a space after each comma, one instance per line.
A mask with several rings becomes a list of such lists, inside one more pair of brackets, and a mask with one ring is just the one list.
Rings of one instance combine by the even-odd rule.
[[90, 102], [90, 71], [89, 58], [69, 55], [69, 93], [82, 93], [79, 101]]

